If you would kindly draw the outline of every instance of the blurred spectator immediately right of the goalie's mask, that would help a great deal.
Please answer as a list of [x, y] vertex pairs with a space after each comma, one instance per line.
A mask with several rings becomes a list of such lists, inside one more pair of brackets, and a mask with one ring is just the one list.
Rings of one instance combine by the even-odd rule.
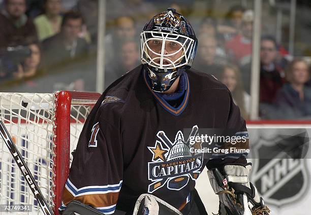
[[198, 47], [198, 56], [194, 63], [194, 67], [219, 79], [222, 73], [222, 64], [225, 63], [225, 59], [216, 56], [216, 39], [203, 34], [200, 35], [199, 41], [200, 46]]

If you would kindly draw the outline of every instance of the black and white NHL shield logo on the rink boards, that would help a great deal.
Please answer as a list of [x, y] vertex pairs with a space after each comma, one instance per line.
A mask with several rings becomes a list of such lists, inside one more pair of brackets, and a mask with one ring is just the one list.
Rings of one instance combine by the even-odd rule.
[[268, 204], [281, 206], [303, 197], [308, 186], [306, 133], [294, 136], [260, 136], [251, 148], [251, 181]]

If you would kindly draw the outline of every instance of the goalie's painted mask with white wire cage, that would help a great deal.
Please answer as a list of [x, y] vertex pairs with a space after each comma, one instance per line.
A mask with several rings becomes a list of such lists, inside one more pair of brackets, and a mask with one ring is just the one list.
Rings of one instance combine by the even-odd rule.
[[157, 92], [168, 90], [182, 71], [191, 67], [198, 44], [188, 20], [172, 8], [145, 25], [140, 42], [141, 62]]

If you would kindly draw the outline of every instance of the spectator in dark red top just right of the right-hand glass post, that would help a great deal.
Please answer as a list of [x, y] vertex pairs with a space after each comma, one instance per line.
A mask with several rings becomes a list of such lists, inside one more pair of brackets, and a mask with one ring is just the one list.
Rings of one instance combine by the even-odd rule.
[[276, 57], [277, 46], [273, 37], [262, 37], [260, 51], [260, 102], [272, 103], [276, 91], [283, 85], [281, 69], [275, 65]]

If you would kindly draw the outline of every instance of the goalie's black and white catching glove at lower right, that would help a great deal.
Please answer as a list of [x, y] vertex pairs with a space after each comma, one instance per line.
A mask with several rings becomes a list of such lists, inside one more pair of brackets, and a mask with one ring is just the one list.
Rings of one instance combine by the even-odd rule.
[[207, 171], [210, 184], [215, 194], [219, 195], [219, 215], [270, 214], [256, 187], [248, 181], [251, 165], [227, 164], [224, 166], [226, 175], [217, 168]]

